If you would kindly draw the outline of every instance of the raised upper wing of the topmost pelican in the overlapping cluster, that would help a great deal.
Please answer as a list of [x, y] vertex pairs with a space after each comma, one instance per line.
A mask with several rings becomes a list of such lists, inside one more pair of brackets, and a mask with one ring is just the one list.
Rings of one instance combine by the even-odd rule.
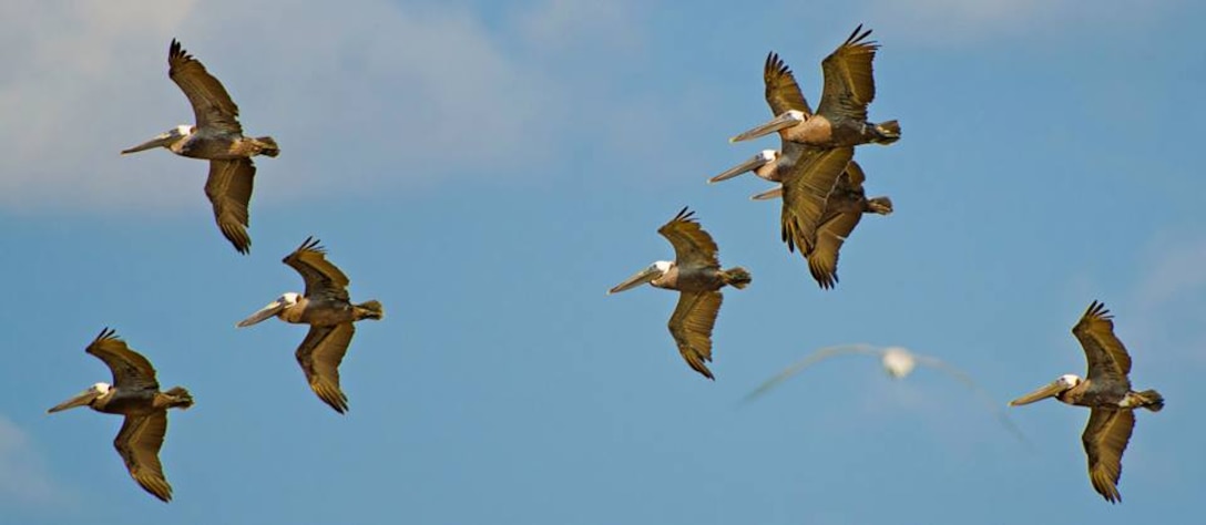
[[825, 90], [816, 112], [842, 116], [859, 122], [867, 119], [867, 105], [876, 99], [876, 78], [871, 63], [879, 45], [866, 40], [871, 30], [859, 24], [844, 43], [821, 61]]

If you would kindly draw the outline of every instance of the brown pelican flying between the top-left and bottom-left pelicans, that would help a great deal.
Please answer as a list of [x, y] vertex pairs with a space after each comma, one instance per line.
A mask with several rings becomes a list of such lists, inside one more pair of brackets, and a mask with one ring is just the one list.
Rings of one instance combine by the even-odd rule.
[[310, 325], [295, 354], [298, 364], [318, 399], [344, 413], [347, 396], [339, 388], [339, 364], [356, 334], [352, 323], [381, 319], [385, 309], [377, 301], [353, 305], [347, 296], [347, 276], [327, 261], [326, 253], [318, 240], [306, 237], [297, 250], [281, 260], [302, 275], [305, 294], [286, 293], [236, 326], [251, 326], [274, 315], [286, 323]]

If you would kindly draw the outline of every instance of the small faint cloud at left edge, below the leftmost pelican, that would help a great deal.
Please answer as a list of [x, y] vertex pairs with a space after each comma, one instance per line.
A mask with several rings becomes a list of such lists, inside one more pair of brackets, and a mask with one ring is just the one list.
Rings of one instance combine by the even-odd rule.
[[29, 437], [0, 415], [0, 501], [43, 505], [57, 494]]

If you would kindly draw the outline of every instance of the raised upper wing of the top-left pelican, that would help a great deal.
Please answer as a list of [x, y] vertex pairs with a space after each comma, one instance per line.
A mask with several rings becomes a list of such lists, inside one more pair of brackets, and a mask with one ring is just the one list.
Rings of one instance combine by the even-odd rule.
[[168, 48], [168, 76], [180, 85], [188, 104], [193, 106], [197, 128], [242, 135], [239, 106], [230, 100], [222, 83], [205, 71], [205, 66], [180, 47], [175, 39]]

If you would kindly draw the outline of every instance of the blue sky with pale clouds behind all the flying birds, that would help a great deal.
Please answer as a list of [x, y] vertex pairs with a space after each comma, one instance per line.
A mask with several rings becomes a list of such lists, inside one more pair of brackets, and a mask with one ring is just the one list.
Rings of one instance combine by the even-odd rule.
[[[39, 2], [0, 6], [0, 220], [10, 276], [0, 509], [22, 524], [1187, 523], [1206, 486], [1206, 182], [1194, 160], [1206, 8], [888, 0]], [[821, 291], [779, 241], [766, 184], [704, 181], [775, 138], [768, 51], [819, 100], [820, 59], [874, 30], [868, 217]], [[172, 37], [282, 154], [257, 164], [250, 256], [212, 223], [205, 164], [121, 157], [191, 112]], [[726, 291], [715, 383], [679, 358], [675, 295], [604, 291], [673, 252], [697, 211]], [[308, 235], [379, 299], [343, 366], [351, 412], [306, 387], [305, 328], [234, 323], [300, 278]], [[1141, 413], [1124, 502], [1085, 474], [1088, 412], [1011, 409], [1019, 444], [938, 372], [891, 381], [835, 359], [750, 405], [820, 347], [897, 344], [974, 376], [1003, 406], [1084, 373], [1070, 329], [1117, 315]], [[129, 478], [121, 419], [47, 407], [109, 372], [112, 326], [165, 387], [176, 500]], [[1075, 517], [1075, 518], [1073, 518]]]

